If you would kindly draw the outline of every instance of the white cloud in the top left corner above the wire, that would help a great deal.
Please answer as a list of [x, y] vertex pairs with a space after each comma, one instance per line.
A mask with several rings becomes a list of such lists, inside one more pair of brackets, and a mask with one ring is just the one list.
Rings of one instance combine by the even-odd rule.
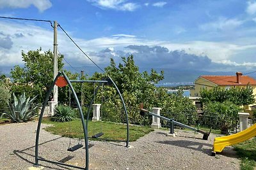
[[52, 3], [49, 0], [0, 0], [0, 8], [28, 8], [31, 5], [35, 6], [39, 11], [44, 11], [51, 8]]

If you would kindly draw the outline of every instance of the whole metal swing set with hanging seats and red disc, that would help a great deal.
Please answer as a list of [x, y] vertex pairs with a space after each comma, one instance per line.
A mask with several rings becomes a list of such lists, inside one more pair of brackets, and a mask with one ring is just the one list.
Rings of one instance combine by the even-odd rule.
[[[81, 108], [81, 104], [79, 103], [78, 97], [77, 97], [76, 92], [75, 92], [75, 90], [72, 86], [72, 83], [99, 83], [97, 89], [94, 90], [93, 98], [90, 101], [90, 106], [88, 108], [86, 123], [84, 121], [83, 110]], [[35, 145], [35, 166], [39, 166], [40, 165], [39, 161], [43, 161], [43, 162], [49, 162], [49, 163], [57, 164], [57, 165], [61, 165], [61, 166], [74, 167], [74, 168], [77, 168], [77, 169], [86, 169], [86, 170], [89, 169], [89, 145], [88, 145], [88, 122], [89, 121], [88, 120], [89, 120], [89, 115], [90, 115], [90, 109], [92, 108], [92, 104], [93, 104], [93, 101], [95, 99], [95, 94], [97, 94], [100, 85], [102, 85], [103, 83], [106, 84], [106, 85], [113, 85], [115, 87], [116, 92], [118, 93], [121, 101], [122, 101], [122, 105], [123, 105], [124, 112], [125, 112], [125, 117], [126, 117], [125, 121], [126, 121], [126, 125], [127, 125], [127, 138], [123, 142], [126, 143], [127, 147], [129, 146], [128, 114], [127, 114], [127, 110], [126, 110], [126, 107], [125, 107], [124, 99], [123, 99], [122, 95], [120, 94], [120, 91], [119, 91], [118, 87], [116, 86], [115, 82], [109, 76], [106, 80], [69, 80], [67, 75], [65, 74], [65, 72], [62, 71], [62, 72], [57, 74], [56, 78], [54, 78], [54, 81], [52, 82], [51, 86], [48, 89], [47, 95], [45, 97], [44, 104], [42, 106], [40, 117], [39, 117], [39, 120], [38, 120], [38, 126], [37, 126], [37, 131], [36, 131], [36, 145]], [[51, 95], [51, 92], [52, 92], [52, 89], [53, 89], [54, 85], [57, 85], [58, 87], [65, 87], [65, 86], [68, 85], [68, 87], [70, 88], [70, 90], [71, 90], [71, 92], [72, 92], [72, 94], [75, 98], [75, 101], [76, 101], [76, 104], [77, 104], [77, 107], [78, 107], [78, 110], [79, 110], [79, 115], [80, 115], [80, 118], [81, 118], [81, 122], [82, 122], [82, 125], [83, 125], [84, 146], [85, 146], [84, 147], [85, 148], [85, 166], [84, 167], [73, 166], [73, 165], [70, 165], [70, 164], [65, 164], [63, 162], [57, 162], [57, 161], [53, 161], [53, 160], [47, 160], [47, 159], [44, 159], [44, 158], [38, 156], [38, 145], [39, 145], [40, 127], [41, 127], [41, 124], [42, 124], [42, 118], [43, 118], [43, 115], [44, 115], [45, 106], [47, 104], [47, 101], [49, 100], [49, 97]], [[102, 135], [103, 135], [103, 132], [100, 132], [98, 134], [93, 135], [92, 138], [99, 138]], [[76, 151], [76, 150], [78, 150], [79, 148], [82, 148], [82, 147], [83, 147], [83, 145], [82, 145], [81, 141], [79, 140], [79, 143], [75, 146], [71, 146], [71, 143], [69, 143], [67, 151], [74, 152], [74, 151]]]

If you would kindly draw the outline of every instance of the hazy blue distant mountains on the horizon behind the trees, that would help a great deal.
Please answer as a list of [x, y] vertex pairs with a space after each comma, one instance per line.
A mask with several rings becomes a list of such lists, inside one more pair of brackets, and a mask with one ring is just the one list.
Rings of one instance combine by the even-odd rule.
[[[0, 67], [0, 74], [5, 74], [6, 76], [10, 77], [10, 71], [13, 67], [10, 66], [1, 66]], [[85, 74], [88, 74], [89, 76], [92, 76], [93, 73], [100, 72], [100, 70], [97, 67], [94, 66], [86, 66], [86, 67], [75, 67], [74, 68], [70, 66], [65, 66], [65, 69], [68, 71], [71, 71], [72, 73], [79, 72], [79, 70], [84, 70]], [[160, 73], [161, 70], [164, 71], [164, 80], [159, 82], [161, 85], [166, 86], [173, 86], [173, 85], [190, 85], [193, 84], [193, 82], [198, 78], [200, 75], [236, 75], [236, 71], [234, 72], [224, 72], [224, 71], [200, 71], [200, 70], [182, 70], [182, 69], [160, 69], [160, 68], [154, 68], [158, 73]], [[140, 71], [148, 71], [150, 73], [151, 68], [146, 67], [140, 67]], [[250, 71], [248, 71], [250, 72]], [[248, 73], [247, 72], [247, 73]], [[256, 73], [248, 74], [248, 76], [252, 76], [256, 79]]]

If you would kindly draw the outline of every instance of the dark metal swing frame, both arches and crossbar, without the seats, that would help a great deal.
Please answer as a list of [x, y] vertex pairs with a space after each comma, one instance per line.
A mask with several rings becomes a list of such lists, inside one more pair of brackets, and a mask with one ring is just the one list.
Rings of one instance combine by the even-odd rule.
[[[61, 78], [61, 75], [63, 75], [62, 79], [65, 79], [65, 81], [67, 82], [67, 85], [70, 87], [70, 90], [72, 91], [72, 94], [75, 97], [75, 101], [76, 101], [77, 107], [79, 109], [81, 121], [82, 121], [82, 124], [83, 124], [84, 144], [85, 144], [85, 151], [86, 151], [85, 152], [85, 157], [86, 157], [85, 158], [85, 167], [73, 166], [73, 165], [70, 165], [70, 164], [65, 164], [65, 163], [62, 163], [62, 162], [56, 162], [56, 161], [44, 159], [42, 157], [38, 157], [38, 145], [39, 145], [39, 137], [40, 137], [40, 127], [41, 127], [41, 124], [42, 124], [42, 118], [43, 118], [43, 115], [44, 115], [45, 106], [47, 105], [47, 101], [49, 100], [49, 97], [50, 97], [51, 92], [52, 92], [52, 90], [54, 88], [54, 85], [56, 85], [56, 82], [58, 81], [58, 78]], [[74, 167], [74, 168], [77, 168], [77, 169], [86, 169], [86, 170], [89, 169], [88, 120], [89, 120], [90, 109], [92, 108], [92, 103], [93, 103], [93, 100], [94, 100], [95, 96], [93, 96], [93, 99], [91, 100], [90, 106], [88, 108], [88, 115], [87, 115], [86, 124], [85, 124], [84, 123], [84, 117], [83, 117], [83, 111], [82, 111], [81, 105], [79, 103], [78, 97], [76, 95], [76, 92], [75, 92], [75, 90], [74, 90], [74, 88], [72, 86], [72, 83], [99, 83], [99, 85], [98, 85], [98, 87], [96, 89], [95, 94], [97, 94], [97, 91], [99, 90], [99, 87], [100, 87], [100, 85], [102, 83], [107, 83], [108, 85], [109, 84], [113, 84], [114, 85], [114, 87], [116, 89], [116, 92], [118, 92], [118, 95], [119, 95], [119, 97], [120, 97], [120, 99], [122, 101], [122, 104], [123, 104], [123, 107], [124, 107], [124, 111], [125, 111], [126, 125], [127, 125], [127, 138], [126, 138], [125, 142], [126, 142], [126, 146], [127, 147], [129, 146], [129, 120], [128, 120], [127, 109], [125, 107], [125, 103], [124, 103], [124, 99], [122, 97], [122, 94], [120, 94], [120, 91], [119, 91], [118, 87], [116, 86], [115, 82], [111, 79], [111, 77], [108, 76], [108, 81], [106, 81], [106, 80], [69, 80], [67, 75], [65, 74], [65, 72], [61, 71], [61, 72], [59, 72], [57, 74], [56, 78], [54, 78], [54, 81], [52, 81], [52, 84], [51, 84], [51, 86], [48, 89], [47, 95], [46, 95], [45, 100], [44, 100], [44, 104], [42, 106], [40, 117], [39, 117], [39, 120], [38, 120], [38, 125], [37, 125], [37, 130], [36, 130], [36, 144], [35, 144], [35, 166], [39, 166], [39, 160], [40, 160], [40, 161], [43, 161], [43, 162], [49, 162], [49, 163], [58, 164], [58, 165], [61, 165], [61, 166]], [[63, 86], [61, 85], [61, 87], [64, 87], [64, 85]]]

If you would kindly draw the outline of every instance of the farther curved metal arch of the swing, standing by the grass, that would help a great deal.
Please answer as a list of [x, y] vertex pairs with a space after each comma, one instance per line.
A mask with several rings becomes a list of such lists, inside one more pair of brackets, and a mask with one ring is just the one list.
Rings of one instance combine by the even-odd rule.
[[[109, 80], [111, 81], [111, 83], [113, 83], [115, 89], [116, 89], [116, 92], [118, 93], [121, 101], [122, 101], [122, 105], [124, 107], [124, 112], [125, 112], [125, 119], [126, 119], [126, 131], [127, 131], [127, 136], [126, 136], [126, 147], [129, 146], [129, 119], [128, 119], [128, 113], [127, 113], [127, 109], [126, 109], [126, 106], [125, 106], [125, 103], [124, 103], [124, 99], [122, 97], [122, 94], [120, 93], [118, 87], [116, 86], [116, 83], [112, 80], [112, 78], [110, 76], [108, 76]], [[98, 85], [97, 89], [95, 90], [95, 96], [97, 95], [97, 92], [99, 90], [99, 87], [100, 87], [101, 83]], [[94, 98], [95, 96], [92, 97], [92, 100], [90, 101], [90, 106], [88, 108], [88, 112], [87, 112], [87, 118], [86, 118], [86, 129], [88, 128], [88, 122], [89, 122], [89, 115], [90, 115], [90, 109], [92, 108], [92, 103], [94, 101]]]

